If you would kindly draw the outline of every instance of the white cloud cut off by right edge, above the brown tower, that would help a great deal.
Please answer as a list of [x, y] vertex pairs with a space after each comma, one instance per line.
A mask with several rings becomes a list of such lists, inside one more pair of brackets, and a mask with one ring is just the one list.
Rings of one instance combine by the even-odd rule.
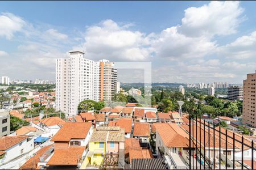
[[255, 57], [256, 53], [256, 31], [250, 35], [238, 37], [234, 42], [220, 46], [218, 53], [221, 56], [234, 59], [245, 59]]

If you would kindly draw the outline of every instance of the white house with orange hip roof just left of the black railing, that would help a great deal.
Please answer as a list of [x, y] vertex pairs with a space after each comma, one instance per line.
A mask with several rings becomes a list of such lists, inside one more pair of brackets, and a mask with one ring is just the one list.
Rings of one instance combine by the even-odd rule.
[[[170, 169], [187, 169], [189, 135], [177, 124], [158, 123], [156, 129], [156, 154], [163, 155]], [[189, 157], [189, 156], [188, 156]]]

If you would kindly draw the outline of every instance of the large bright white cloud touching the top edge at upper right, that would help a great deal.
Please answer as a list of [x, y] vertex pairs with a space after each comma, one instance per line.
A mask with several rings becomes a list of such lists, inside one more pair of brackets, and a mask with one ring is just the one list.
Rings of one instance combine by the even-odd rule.
[[211, 1], [201, 7], [185, 10], [180, 32], [186, 36], [230, 35], [245, 19], [239, 1]]

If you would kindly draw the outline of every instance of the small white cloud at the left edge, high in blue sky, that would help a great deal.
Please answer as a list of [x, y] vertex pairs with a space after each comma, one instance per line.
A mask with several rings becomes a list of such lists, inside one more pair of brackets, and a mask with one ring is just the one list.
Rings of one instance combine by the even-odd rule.
[[26, 22], [11, 13], [2, 13], [0, 15], [0, 37], [6, 37], [10, 40], [15, 32], [22, 31], [22, 27]]

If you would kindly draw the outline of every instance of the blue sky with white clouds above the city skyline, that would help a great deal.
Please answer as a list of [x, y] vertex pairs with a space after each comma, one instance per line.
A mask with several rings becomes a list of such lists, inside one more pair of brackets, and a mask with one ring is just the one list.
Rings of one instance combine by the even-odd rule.
[[[256, 70], [256, 2], [0, 2], [0, 76], [55, 80], [55, 59], [149, 61], [152, 82], [242, 83]], [[119, 71], [142, 82], [143, 70]]]

